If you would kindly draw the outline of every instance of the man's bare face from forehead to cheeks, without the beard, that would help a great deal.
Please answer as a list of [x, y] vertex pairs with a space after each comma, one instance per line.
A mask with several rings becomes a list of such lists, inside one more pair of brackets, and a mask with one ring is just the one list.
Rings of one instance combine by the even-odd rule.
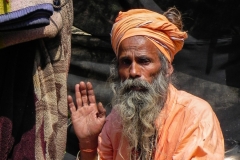
[[158, 49], [150, 40], [143, 36], [134, 36], [121, 42], [118, 73], [122, 81], [140, 78], [151, 83], [160, 69]]

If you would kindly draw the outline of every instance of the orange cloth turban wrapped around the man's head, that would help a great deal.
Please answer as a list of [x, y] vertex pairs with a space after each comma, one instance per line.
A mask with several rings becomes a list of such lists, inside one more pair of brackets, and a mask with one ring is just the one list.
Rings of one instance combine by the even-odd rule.
[[146, 9], [119, 12], [111, 32], [112, 47], [116, 55], [122, 40], [132, 36], [145, 36], [165, 55], [169, 62], [180, 51], [187, 33], [159, 13]]

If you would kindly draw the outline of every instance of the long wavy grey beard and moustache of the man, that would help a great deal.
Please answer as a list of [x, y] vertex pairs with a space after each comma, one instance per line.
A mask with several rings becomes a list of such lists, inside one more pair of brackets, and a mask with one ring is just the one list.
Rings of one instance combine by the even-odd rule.
[[169, 78], [160, 72], [151, 84], [127, 79], [116, 88], [112, 105], [121, 117], [130, 151], [140, 148], [141, 159], [148, 158], [151, 151], [151, 137], [156, 134], [154, 122], [166, 101], [168, 85]]

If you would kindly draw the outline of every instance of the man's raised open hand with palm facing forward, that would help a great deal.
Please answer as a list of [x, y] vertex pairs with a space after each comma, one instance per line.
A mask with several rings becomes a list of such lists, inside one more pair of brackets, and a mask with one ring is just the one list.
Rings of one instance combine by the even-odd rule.
[[[68, 96], [68, 105], [76, 136], [80, 143], [97, 143], [97, 137], [105, 123], [106, 110], [102, 103], [96, 104], [92, 84], [80, 82], [75, 86], [76, 104]], [[97, 145], [97, 144], [92, 144]]]

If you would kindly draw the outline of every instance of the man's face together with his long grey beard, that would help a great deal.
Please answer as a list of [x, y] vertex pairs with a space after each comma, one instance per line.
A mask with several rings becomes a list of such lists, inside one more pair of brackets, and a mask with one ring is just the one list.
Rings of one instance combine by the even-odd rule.
[[157, 47], [143, 36], [123, 40], [118, 55], [121, 81], [113, 82], [112, 105], [121, 117], [122, 133], [130, 148], [140, 148], [145, 157], [156, 133], [155, 120], [167, 97], [167, 62], [163, 59], [161, 64]]

